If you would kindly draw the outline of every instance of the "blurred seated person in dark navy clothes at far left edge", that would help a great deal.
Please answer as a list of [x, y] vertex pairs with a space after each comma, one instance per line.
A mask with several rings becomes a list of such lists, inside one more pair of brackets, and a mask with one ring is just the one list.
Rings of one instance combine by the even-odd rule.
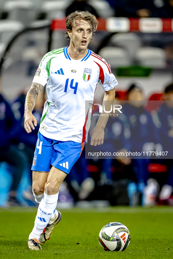
[[14, 118], [10, 105], [0, 93], [0, 161], [8, 164], [8, 171], [12, 175], [12, 185], [8, 194], [8, 206], [20, 206], [16, 192], [27, 166], [28, 160], [25, 153], [13, 144], [18, 131], [17, 121]]

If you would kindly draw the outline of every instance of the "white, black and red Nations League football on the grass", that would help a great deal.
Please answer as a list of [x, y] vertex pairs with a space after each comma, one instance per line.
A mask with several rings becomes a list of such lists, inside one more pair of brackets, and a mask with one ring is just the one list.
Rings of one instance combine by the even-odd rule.
[[124, 251], [130, 244], [130, 232], [119, 222], [108, 223], [100, 230], [99, 244], [105, 251]]

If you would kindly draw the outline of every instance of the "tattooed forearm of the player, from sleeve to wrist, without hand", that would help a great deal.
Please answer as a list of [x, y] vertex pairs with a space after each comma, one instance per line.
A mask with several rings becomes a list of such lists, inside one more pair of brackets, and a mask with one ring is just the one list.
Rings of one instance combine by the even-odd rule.
[[38, 94], [42, 90], [43, 86], [41, 84], [32, 83], [30, 90], [26, 95], [25, 100], [25, 114], [32, 112], [34, 109]]

